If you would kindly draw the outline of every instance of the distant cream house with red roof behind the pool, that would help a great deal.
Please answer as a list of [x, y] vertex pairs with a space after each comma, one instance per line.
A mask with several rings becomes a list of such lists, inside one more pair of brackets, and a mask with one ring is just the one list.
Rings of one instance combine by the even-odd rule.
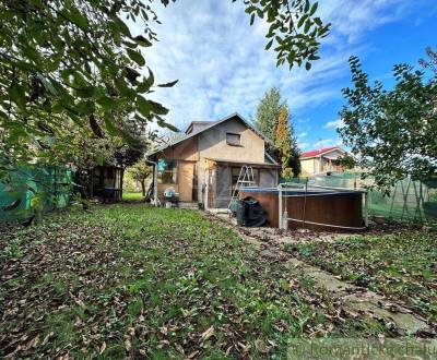
[[340, 158], [346, 152], [339, 146], [315, 149], [300, 155], [302, 177], [315, 175], [330, 175], [344, 172], [345, 168], [340, 164]]

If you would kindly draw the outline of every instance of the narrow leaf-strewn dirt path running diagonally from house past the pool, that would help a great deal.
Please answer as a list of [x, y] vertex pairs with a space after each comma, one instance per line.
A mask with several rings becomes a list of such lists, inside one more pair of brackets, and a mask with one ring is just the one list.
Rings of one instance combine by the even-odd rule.
[[285, 266], [290, 268], [291, 275], [306, 274], [315, 281], [316, 287], [324, 288], [334, 297], [341, 298], [345, 310], [351, 314], [367, 314], [380, 319], [403, 336], [421, 336], [430, 331], [423, 317], [403, 305], [389, 301], [387, 298], [363, 287], [339, 280], [334, 275], [295, 257], [290, 257], [291, 255], [283, 251], [284, 243], [305, 241], [308, 237], [311, 237], [311, 241], [333, 241], [339, 236], [344, 235], [305, 231], [290, 236], [290, 232], [285, 233], [279, 229], [241, 228], [236, 226], [235, 221], [227, 215], [208, 214], [206, 216], [239, 233], [246, 241], [260, 250], [261, 256], [281, 259]]

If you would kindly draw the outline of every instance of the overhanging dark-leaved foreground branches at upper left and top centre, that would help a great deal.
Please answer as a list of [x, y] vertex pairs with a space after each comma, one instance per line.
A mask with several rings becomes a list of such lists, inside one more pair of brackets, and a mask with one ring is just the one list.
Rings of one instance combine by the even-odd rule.
[[[169, 0], [161, 0], [167, 5]], [[52, 163], [57, 148], [69, 158], [78, 152], [73, 134], [131, 141], [117, 123], [120, 111], [146, 124], [167, 123], [164, 106], [149, 98], [155, 85], [141, 49], [156, 40], [158, 22], [152, 0], [5, 0], [0, 3], [0, 166], [16, 161]], [[250, 24], [258, 16], [269, 24], [267, 49], [273, 46], [277, 65], [317, 60], [319, 40], [329, 33], [309, 0], [245, 0]], [[132, 34], [128, 22], [142, 33]], [[101, 121], [97, 119], [99, 117]], [[67, 133], [70, 132], [70, 133]], [[48, 145], [47, 145], [48, 144]]]

